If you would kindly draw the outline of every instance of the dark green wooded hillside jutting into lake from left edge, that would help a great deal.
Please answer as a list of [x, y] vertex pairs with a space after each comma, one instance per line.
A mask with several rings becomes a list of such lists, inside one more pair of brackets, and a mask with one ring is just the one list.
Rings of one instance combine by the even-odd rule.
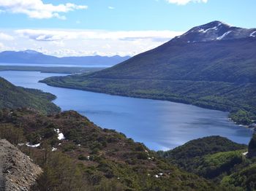
[[15, 109], [29, 107], [44, 114], [59, 112], [58, 106], [51, 101], [55, 95], [44, 93], [41, 90], [16, 87], [0, 77], [0, 109]]

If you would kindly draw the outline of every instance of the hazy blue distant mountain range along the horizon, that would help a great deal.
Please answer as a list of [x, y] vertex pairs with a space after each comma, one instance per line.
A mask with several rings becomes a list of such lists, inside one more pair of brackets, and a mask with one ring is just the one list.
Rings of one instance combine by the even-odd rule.
[[121, 57], [119, 55], [108, 56], [72, 56], [56, 57], [44, 55], [34, 50], [25, 51], [4, 51], [0, 52], [0, 63], [42, 63], [42, 64], [76, 64], [76, 65], [108, 65], [113, 66], [129, 59], [129, 56]]

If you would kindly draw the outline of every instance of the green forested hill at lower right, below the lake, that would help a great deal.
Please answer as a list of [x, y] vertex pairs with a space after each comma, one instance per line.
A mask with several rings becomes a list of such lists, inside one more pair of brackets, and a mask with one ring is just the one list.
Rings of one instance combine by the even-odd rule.
[[250, 153], [256, 148], [253, 141], [255, 136], [250, 141], [249, 153], [243, 144], [210, 136], [158, 154], [179, 168], [213, 180], [226, 190], [255, 190], [256, 158]]

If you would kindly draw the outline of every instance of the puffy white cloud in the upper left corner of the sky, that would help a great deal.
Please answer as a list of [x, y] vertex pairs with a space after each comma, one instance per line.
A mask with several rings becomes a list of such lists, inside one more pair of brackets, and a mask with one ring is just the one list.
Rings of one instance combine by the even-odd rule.
[[42, 0], [0, 0], [0, 7], [5, 12], [23, 13], [31, 18], [43, 19], [57, 17], [65, 19], [59, 12], [69, 12], [75, 9], [87, 9], [85, 5], [76, 4], [44, 4]]

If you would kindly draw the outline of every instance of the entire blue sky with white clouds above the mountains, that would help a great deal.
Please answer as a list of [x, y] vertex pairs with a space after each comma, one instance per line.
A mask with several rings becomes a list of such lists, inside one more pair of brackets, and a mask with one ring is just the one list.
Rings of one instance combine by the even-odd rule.
[[214, 20], [256, 28], [256, 0], [0, 0], [0, 51], [136, 55]]

